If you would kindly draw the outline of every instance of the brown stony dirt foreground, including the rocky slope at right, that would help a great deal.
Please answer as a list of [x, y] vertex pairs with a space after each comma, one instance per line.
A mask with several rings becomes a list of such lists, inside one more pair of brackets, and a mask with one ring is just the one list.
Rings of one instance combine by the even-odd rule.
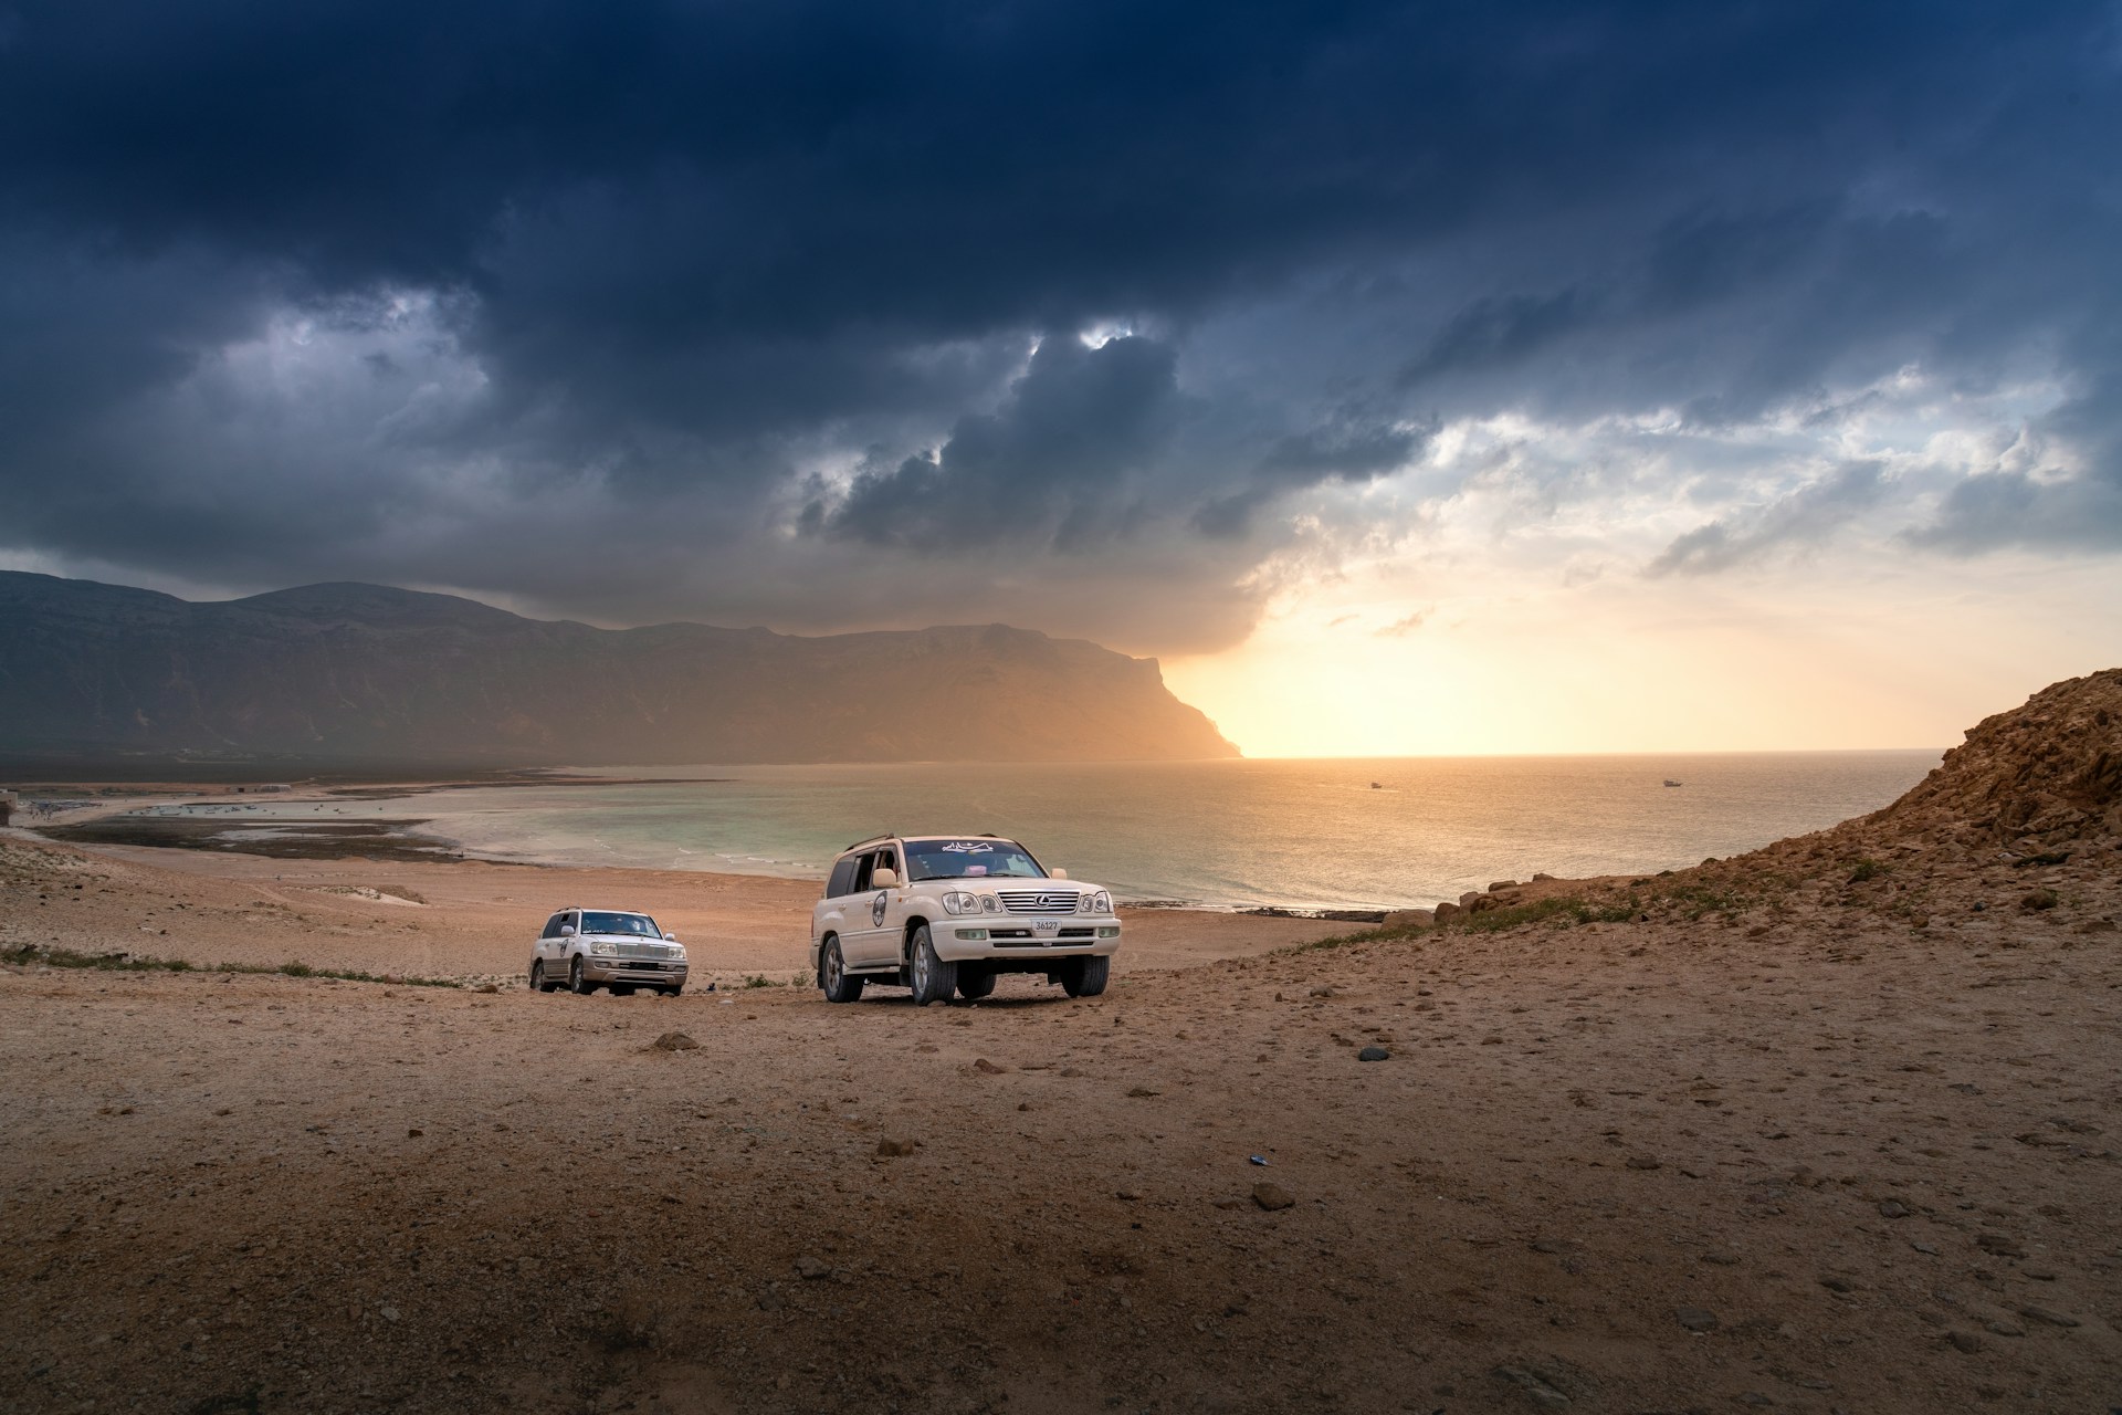
[[[2077, 679], [1833, 832], [1496, 889], [1441, 927], [1137, 963], [1095, 1001], [21, 955], [0, 1390], [28, 1411], [2109, 1411], [2118, 721], [2122, 672]], [[8, 859], [11, 916], [112, 868]]]

